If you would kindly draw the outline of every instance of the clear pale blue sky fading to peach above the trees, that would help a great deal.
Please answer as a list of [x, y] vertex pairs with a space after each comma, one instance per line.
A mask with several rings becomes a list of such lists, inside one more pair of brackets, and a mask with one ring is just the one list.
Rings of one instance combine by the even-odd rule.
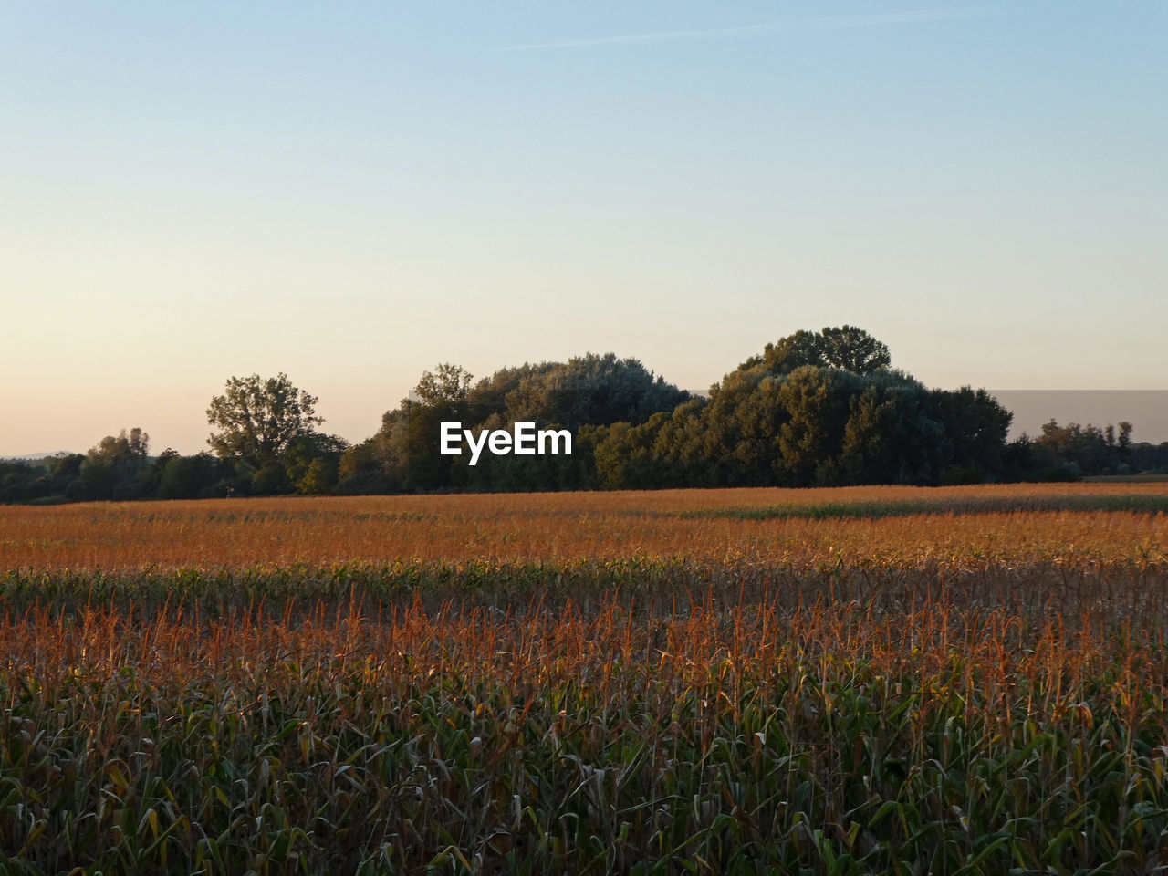
[[206, 449], [286, 371], [702, 389], [858, 325], [930, 385], [1168, 388], [1168, 4], [0, 6], [0, 454]]

